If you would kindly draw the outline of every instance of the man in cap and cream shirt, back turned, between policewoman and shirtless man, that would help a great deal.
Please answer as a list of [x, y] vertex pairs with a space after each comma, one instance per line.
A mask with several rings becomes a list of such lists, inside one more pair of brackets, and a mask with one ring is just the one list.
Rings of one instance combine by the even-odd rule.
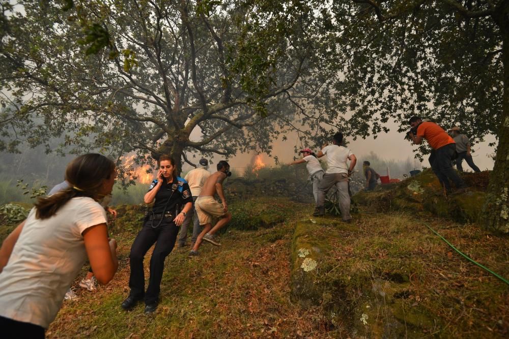
[[178, 238], [178, 244], [179, 247], [184, 247], [186, 245], [186, 239], [187, 239], [187, 228], [189, 227], [189, 224], [191, 223], [191, 218], [194, 218], [193, 220], [193, 228], [192, 228], [192, 237], [191, 237], [191, 248], [194, 246], [194, 243], [196, 242], [196, 238], [200, 234], [200, 221], [198, 220], [198, 215], [196, 214], [196, 209], [194, 209], [194, 202], [202, 193], [203, 184], [207, 180], [207, 178], [210, 176], [210, 172], [208, 171], [209, 168], [209, 161], [205, 158], [200, 159], [199, 165], [195, 168], [190, 170], [184, 179], [189, 183], [189, 188], [191, 189], [192, 194], [192, 210], [189, 211], [186, 215], [186, 219], [184, 219], [184, 222], [182, 223], [182, 226], [180, 227], [180, 233]]

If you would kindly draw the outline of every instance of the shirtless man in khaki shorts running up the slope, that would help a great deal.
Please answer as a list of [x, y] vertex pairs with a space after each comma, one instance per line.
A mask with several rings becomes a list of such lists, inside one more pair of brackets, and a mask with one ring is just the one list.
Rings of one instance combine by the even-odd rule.
[[[203, 226], [203, 231], [196, 239], [191, 252], [189, 252], [189, 257], [198, 255], [198, 249], [203, 240], [216, 246], [221, 245], [214, 239], [214, 233], [232, 220], [232, 214], [228, 212], [228, 205], [222, 191], [222, 182], [230, 175], [232, 175], [230, 165], [226, 161], [221, 160], [217, 163], [217, 172], [209, 176], [207, 181], [205, 181], [202, 193], [200, 193], [195, 202], [196, 213], [200, 220], [200, 226]], [[214, 199], [216, 193], [221, 199], [221, 203]], [[220, 218], [214, 227], [212, 227], [213, 217]]]

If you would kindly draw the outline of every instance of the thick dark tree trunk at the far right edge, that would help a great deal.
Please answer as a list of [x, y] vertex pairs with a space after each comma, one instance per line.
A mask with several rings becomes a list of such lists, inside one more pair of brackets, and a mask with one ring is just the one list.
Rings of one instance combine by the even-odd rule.
[[509, 1], [505, 1], [502, 10], [494, 14], [494, 19], [502, 34], [504, 91], [495, 166], [490, 174], [480, 222], [490, 230], [509, 234]]

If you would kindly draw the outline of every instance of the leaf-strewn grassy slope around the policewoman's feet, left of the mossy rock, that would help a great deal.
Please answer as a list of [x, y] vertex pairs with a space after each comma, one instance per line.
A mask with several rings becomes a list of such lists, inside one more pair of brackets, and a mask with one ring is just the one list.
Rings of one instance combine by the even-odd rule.
[[291, 336], [299, 330], [316, 335], [322, 319], [316, 310], [289, 302], [292, 229], [291, 220], [259, 231], [230, 229], [221, 236], [220, 248], [205, 244], [193, 259], [187, 258], [187, 249], [174, 250], [166, 259], [158, 311], [151, 316], [143, 314], [143, 305], [131, 312], [120, 309], [128, 293], [132, 235], [116, 234], [123, 259], [114, 282], [96, 293], [78, 291], [81, 299], [65, 302], [46, 334], [216, 338]]

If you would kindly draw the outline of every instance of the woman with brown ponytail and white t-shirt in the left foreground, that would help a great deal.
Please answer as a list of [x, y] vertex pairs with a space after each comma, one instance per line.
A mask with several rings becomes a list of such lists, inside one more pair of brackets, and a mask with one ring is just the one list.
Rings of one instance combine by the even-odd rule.
[[67, 165], [70, 187], [38, 199], [0, 248], [0, 327], [6, 337], [44, 337], [88, 256], [101, 284], [118, 268], [117, 242], [108, 239], [106, 212], [115, 163], [87, 154]]

